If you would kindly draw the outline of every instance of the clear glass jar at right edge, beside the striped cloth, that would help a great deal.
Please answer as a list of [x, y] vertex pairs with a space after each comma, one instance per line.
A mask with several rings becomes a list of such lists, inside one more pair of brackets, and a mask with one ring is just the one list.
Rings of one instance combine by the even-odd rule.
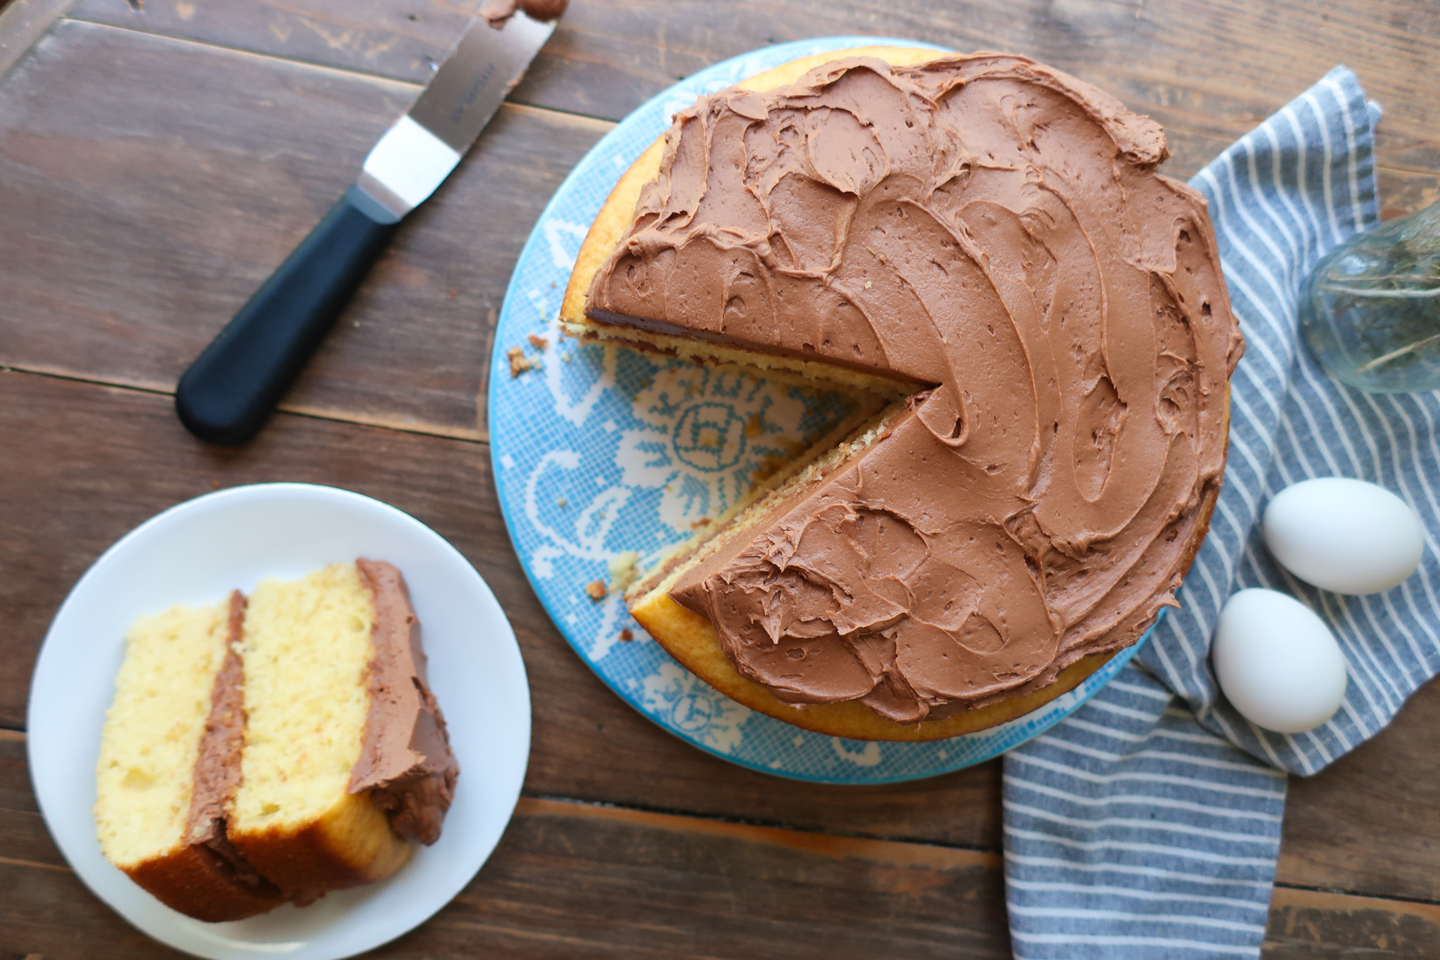
[[1300, 289], [1300, 328], [1341, 383], [1440, 389], [1440, 203], [1326, 253]]

